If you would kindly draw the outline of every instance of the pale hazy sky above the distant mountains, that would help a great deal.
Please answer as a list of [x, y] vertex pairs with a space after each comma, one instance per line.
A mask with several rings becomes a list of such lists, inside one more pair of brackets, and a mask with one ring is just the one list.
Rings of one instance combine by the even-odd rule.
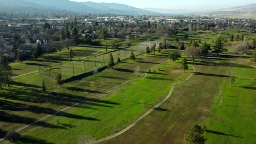
[[[86, 2], [86, 0], [71, 0]], [[256, 0], [91, 0], [91, 2], [121, 3], [136, 8], [167, 8], [167, 9], [222, 9], [237, 5], [256, 3]]]

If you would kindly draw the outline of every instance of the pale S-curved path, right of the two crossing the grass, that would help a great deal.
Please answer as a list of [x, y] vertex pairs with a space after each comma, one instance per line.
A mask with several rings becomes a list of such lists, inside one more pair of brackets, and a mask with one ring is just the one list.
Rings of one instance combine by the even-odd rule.
[[165, 99], [163, 99], [160, 103], [156, 104], [152, 109], [148, 110], [146, 113], [144, 113], [144, 115], [142, 115], [141, 117], [139, 117], [135, 122], [133, 122], [132, 124], [128, 125], [128, 127], [126, 127], [125, 129], [119, 131], [118, 133], [116, 134], [113, 134], [113, 135], [110, 135], [110, 136], [107, 136], [107, 137], [104, 137], [103, 139], [100, 139], [100, 140], [97, 140], [97, 141], [94, 141], [92, 143], [100, 143], [100, 142], [103, 142], [103, 141], [106, 141], [106, 140], [109, 140], [109, 139], [113, 139], [114, 137], [117, 137], [123, 133], [125, 133], [127, 130], [131, 129], [135, 124], [137, 124], [139, 121], [141, 121], [141, 119], [143, 119], [144, 117], [146, 117], [147, 115], [149, 115], [149, 113], [151, 113], [155, 108], [158, 108], [160, 105], [164, 104], [165, 101], [171, 97], [172, 95], [172, 92], [173, 92], [173, 89], [176, 85], [180, 84], [180, 83], [183, 83], [183, 82], [186, 82], [188, 81], [195, 73], [195, 67], [193, 65], [191, 65], [193, 67], [193, 73], [187, 78], [185, 79], [184, 81], [180, 81], [180, 82], [176, 82], [172, 85], [171, 89], [170, 89], [170, 92], [168, 93], [168, 95], [166, 96]]

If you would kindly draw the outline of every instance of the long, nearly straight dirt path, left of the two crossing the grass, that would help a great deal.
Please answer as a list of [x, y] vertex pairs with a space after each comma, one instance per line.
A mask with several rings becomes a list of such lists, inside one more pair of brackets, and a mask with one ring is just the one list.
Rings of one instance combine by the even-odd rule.
[[[168, 62], [168, 61], [170, 61], [170, 59], [168, 59], [168, 60], [165, 61], [165, 62], [162, 62], [161, 64], [166, 63], [166, 62]], [[154, 67], [152, 67], [151, 69], [154, 69], [154, 68], [158, 67], [159, 65], [160, 65], [160, 64], [157, 64], [157, 65], [155, 65]], [[148, 72], [148, 71], [147, 71], [147, 72]], [[117, 85], [117, 86], [114, 86], [114, 87], [112, 87], [112, 88], [106, 89], [105, 91], [103, 91], [103, 93], [106, 93], [106, 92], [108, 92], [108, 91], [111, 91], [111, 90], [114, 89], [114, 88], [117, 88], [117, 87], [119, 87], [119, 86], [122, 86], [122, 85], [124, 85], [124, 84], [127, 83], [127, 82], [142, 80], [142, 79], [145, 79], [146, 77], [147, 77], [147, 73], [145, 73], [144, 76], [143, 76], [142, 78], [140, 78], [140, 79], [125, 81], [125, 82], [123, 82], [123, 83], [120, 83], [120, 84]], [[40, 119], [38, 119], [37, 121], [34, 121], [34, 122], [31, 123], [31, 124], [27, 124], [27, 125], [25, 125], [24, 127], [21, 127], [21, 128], [19, 128], [19, 129], [16, 129], [14, 132], [15, 132], [15, 133], [19, 133], [21, 130], [24, 130], [24, 129], [28, 128], [28, 127], [31, 127], [32, 125], [37, 124], [38, 122], [44, 121], [45, 119], [47, 119], [47, 118], [49, 118], [49, 117], [52, 117], [52, 116], [56, 115], [57, 113], [60, 113], [60, 112], [62, 112], [62, 111], [66, 111], [66, 110], [68, 110], [68, 109], [71, 109], [71, 108], [74, 107], [74, 106], [80, 105], [80, 104], [84, 103], [85, 101], [88, 101], [88, 100], [90, 100], [90, 99], [92, 99], [92, 98], [97, 97], [98, 95], [101, 95], [101, 93], [96, 94], [96, 95], [94, 95], [94, 96], [92, 96], [92, 97], [90, 97], [90, 98], [87, 98], [87, 99], [83, 100], [83, 101], [80, 101], [79, 103], [76, 103], [76, 104], [73, 104], [73, 105], [71, 105], [71, 106], [65, 107], [64, 109], [61, 109], [61, 110], [59, 110], [59, 111], [57, 111], [57, 112], [55, 112], [55, 113], [53, 113], [53, 114], [51, 114], [51, 115], [45, 116], [45, 117], [43, 117], [43, 118], [40, 118]], [[9, 136], [11, 136], [11, 134], [10, 134], [10, 135], [5, 135], [3, 138], [0, 139], [0, 142], [4, 141], [4, 140], [7, 139]], [[106, 138], [107, 138], [107, 137], [106, 137]], [[110, 138], [110, 139], [111, 139], [111, 138]], [[106, 140], [108, 140], [108, 139], [106, 139]]]

